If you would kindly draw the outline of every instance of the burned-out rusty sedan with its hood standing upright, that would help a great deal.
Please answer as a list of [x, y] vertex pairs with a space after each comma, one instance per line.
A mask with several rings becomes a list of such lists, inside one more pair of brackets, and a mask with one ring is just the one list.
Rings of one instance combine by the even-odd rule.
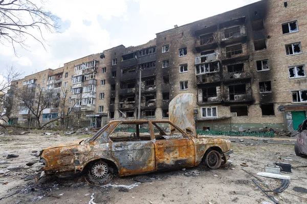
[[232, 153], [231, 142], [196, 135], [190, 118], [191, 96], [177, 99], [179, 107], [176, 101], [170, 103], [171, 121], [115, 120], [89, 139], [43, 149], [45, 173], [88, 171], [95, 179], [103, 179], [110, 171], [126, 176], [193, 167], [202, 161], [212, 169], [220, 167]]

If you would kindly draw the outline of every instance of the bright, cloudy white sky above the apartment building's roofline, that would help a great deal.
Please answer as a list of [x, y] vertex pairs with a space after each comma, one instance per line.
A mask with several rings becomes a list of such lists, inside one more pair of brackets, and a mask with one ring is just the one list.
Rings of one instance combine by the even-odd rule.
[[46, 33], [47, 50], [27, 39], [29, 50], [0, 45], [0, 72], [7, 66], [29, 75], [123, 44], [144, 44], [156, 33], [258, 0], [52, 0], [45, 8], [60, 18], [60, 33]]

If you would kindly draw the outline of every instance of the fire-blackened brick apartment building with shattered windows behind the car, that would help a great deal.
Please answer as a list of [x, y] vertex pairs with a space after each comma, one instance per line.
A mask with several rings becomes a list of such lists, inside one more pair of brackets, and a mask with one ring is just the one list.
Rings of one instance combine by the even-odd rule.
[[197, 129], [296, 130], [307, 115], [306, 10], [302, 0], [263, 0], [175, 25], [65, 63], [49, 86], [68, 87], [74, 118], [90, 126], [137, 119], [139, 92], [141, 119], [167, 119], [170, 100], [193, 93]]

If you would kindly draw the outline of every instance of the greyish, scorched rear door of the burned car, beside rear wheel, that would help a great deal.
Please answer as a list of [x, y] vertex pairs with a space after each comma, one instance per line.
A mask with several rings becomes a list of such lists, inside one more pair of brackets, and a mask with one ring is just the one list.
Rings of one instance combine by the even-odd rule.
[[125, 121], [110, 134], [113, 158], [121, 175], [155, 170], [155, 145], [151, 141], [148, 122]]

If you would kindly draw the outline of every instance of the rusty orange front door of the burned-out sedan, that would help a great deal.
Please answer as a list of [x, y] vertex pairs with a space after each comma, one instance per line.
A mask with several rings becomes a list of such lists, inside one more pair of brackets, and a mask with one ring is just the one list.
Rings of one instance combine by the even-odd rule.
[[156, 170], [194, 166], [194, 143], [183, 131], [168, 121], [152, 122], [152, 127], [156, 138]]

